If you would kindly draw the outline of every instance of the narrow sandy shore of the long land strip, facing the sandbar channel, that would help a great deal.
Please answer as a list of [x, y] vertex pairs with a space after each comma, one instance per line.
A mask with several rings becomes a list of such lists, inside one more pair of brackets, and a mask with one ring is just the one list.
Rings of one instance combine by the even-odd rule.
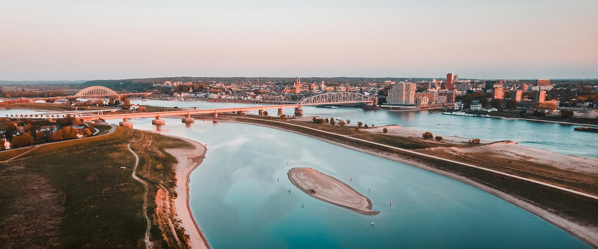
[[233, 118], [230, 118], [228, 120], [226, 119], [206, 119], [206, 120], [216, 120], [216, 121], [223, 121], [223, 122], [236, 122], [236, 123], [240, 123], [240, 124], [251, 124], [251, 125], [258, 125], [258, 126], [262, 126], [262, 127], [269, 127], [269, 128], [274, 128], [277, 130], [283, 130], [283, 131], [288, 131], [291, 133], [295, 133], [295, 134], [300, 134], [303, 136], [308, 136], [311, 137], [313, 139], [318, 139], [321, 140], [323, 142], [327, 142], [330, 143], [332, 145], [337, 145], [337, 146], [341, 146], [341, 147], [346, 147], [347, 149], [352, 149], [358, 152], [363, 152], [363, 153], [368, 153], [370, 155], [374, 155], [374, 156], [379, 156], [381, 158], [386, 158], [392, 161], [396, 161], [396, 162], [402, 162], [404, 164], [408, 164], [408, 165], [412, 165], [414, 167], [418, 167], [418, 168], [422, 168], [423, 170], [427, 170], [427, 171], [431, 171], [437, 174], [441, 174], [443, 176], [447, 176], [450, 177], [452, 179], [458, 180], [460, 182], [466, 183], [468, 185], [471, 185], [473, 187], [476, 187], [477, 189], [483, 190], [484, 192], [490, 193], [492, 195], [497, 196], [498, 198], [501, 198], [507, 202], [510, 202], [511, 204], [516, 205], [519, 208], [522, 208], [523, 210], [529, 211], [532, 214], [535, 214], [538, 217], [541, 217], [542, 219], [546, 220], [547, 222], [553, 224], [554, 226], [557, 226], [560, 229], [565, 230], [566, 232], [570, 233], [571, 235], [575, 236], [578, 239], [581, 239], [582, 241], [586, 242], [587, 244], [591, 245], [594, 248], [598, 248], [598, 228], [596, 227], [590, 227], [590, 226], [584, 226], [581, 225], [579, 223], [575, 223], [573, 220], [569, 220], [566, 219], [566, 217], [560, 217], [557, 216], [554, 213], [551, 213], [548, 210], [545, 210], [545, 208], [536, 206], [528, 201], [526, 201], [525, 199], [521, 199], [518, 198], [517, 196], [513, 196], [510, 195], [508, 193], [502, 192], [500, 190], [494, 189], [492, 187], [483, 185], [481, 183], [475, 182], [474, 180], [468, 179], [466, 177], [463, 176], [459, 176], [457, 174], [454, 173], [450, 173], [447, 171], [443, 171], [443, 170], [438, 170], [437, 168], [433, 168], [430, 167], [426, 164], [422, 164], [420, 162], [416, 162], [416, 161], [412, 161], [408, 158], [402, 158], [402, 157], [397, 157], [395, 155], [393, 155], [392, 153], [386, 153], [386, 152], [379, 152], [377, 150], [373, 150], [373, 149], [361, 149], [359, 147], [355, 147], [355, 146], [351, 146], [351, 145], [346, 145], [344, 143], [339, 143], [339, 142], [334, 142], [332, 140], [329, 139], [324, 139], [322, 137], [318, 137], [318, 136], [313, 136], [310, 134], [305, 134], [305, 133], [301, 133], [299, 131], [294, 131], [294, 130], [288, 130], [286, 128], [281, 128], [281, 127], [274, 127], [274, 126], [270, 126], [270, 125], [264, 125], [264, 124], [255, 124], [255, 123], [251, 123], [251, 122], [240, 122], [240, 121], [234, 121]]

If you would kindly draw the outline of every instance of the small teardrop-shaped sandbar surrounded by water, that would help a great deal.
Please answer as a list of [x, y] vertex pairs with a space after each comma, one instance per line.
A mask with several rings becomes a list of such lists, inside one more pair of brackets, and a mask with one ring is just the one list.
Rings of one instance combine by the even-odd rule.
[[365, 197], [346, 183], [313, 168], [291, 168], [287, 175], [295, 187], [320, 201], [368, 216], [380, 213], [371, 210], [370, 198]]

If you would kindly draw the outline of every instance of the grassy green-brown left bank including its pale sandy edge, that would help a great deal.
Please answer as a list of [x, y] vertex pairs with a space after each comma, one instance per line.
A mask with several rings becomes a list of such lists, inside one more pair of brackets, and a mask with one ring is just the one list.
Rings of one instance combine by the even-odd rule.
[[[209, 248], [188, 206], [188, 177], [205, 147], [112, 127], [103, 136], [43, 145], [0, 163], [3, 246]], [[132, 177], [135, 155], [135, 175], [148, 183], [147, 193]]]

